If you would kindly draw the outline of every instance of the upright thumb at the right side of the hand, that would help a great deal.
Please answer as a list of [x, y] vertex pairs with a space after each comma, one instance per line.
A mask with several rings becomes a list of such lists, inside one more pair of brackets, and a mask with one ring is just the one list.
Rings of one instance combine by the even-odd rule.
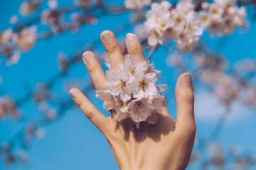
[[178, 77], [175, 89], [177, 103], [176, 126], [196, 128], [194, 115], [194, 94], [191, 74], [184, 73]]

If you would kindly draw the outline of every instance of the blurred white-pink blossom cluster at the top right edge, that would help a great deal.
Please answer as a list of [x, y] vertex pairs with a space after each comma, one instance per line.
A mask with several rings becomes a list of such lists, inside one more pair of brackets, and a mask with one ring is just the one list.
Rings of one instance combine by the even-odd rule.
[[235, 27], [245, 27], [245, 17], [247, 15], [244, 6], [238, 7], [236, 0], [214, 0], [214, 3], [202, 4], [205, 11], [200, 11], [199, 16], [203, 26], [210, 30], [210, 36], [224, 34], [230, 35]]

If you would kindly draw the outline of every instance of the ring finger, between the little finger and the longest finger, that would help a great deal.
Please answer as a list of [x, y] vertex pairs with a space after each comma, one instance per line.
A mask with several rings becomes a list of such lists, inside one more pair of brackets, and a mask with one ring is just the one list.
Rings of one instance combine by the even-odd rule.
[[84, 52], [82, 55], [82, 61], [85, 63], [85, 66], [92, 77], [95, 89], [104, 89], [104, 84], [107, 82], [106, 76], [100, 66], [100, 63], [97, 61], [95, 54], [90, 51]]

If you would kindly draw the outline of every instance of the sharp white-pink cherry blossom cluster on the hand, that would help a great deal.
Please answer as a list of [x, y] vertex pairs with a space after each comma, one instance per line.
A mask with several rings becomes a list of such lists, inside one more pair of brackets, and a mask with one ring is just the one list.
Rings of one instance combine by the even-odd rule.
[[154, 69], [154, 63], [137, 62], [133, 55], [125, 55], [124, 64], [119, 64], [117, 70], [107, 70], [106, 74], [106, 89], [96, 91], [96, 96], [104, 101], [103, 108], [116, 111], [114, 119], [131, 118], [137, 128], [142, 121], [157, 123], [156, 113], [164, 102], [159, 92], [167, 86], [156, 84], [161, 72]]

